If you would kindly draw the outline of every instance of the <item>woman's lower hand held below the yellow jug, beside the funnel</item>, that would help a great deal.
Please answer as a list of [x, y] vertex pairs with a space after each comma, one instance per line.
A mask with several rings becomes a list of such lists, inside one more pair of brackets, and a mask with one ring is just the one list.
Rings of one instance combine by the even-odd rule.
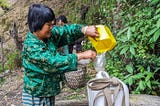
[[94, 58], [96, 57], [96, 52], [92, 51], [92, 50], [87, 50], [87, 51], [84, 51], [84, 52], [81, 52], [81, 53], [77, 53], [77, 57], [78, 57], [78, 60], [81, 60], [81, 59], [92, 59], [92, 60], [94, 60]]

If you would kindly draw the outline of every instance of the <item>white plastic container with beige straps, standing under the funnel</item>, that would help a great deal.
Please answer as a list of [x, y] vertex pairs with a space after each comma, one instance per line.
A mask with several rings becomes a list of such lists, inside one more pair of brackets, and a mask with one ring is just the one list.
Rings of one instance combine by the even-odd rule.
[[[109, 78], [108, 73], [105, 71], [99, 71], [96, 74], [96, 78], [94, 78], [94, 79], [101, 79], [101, 78]], [[94, 79], [92, 79], [92, 80], [94, 80]], [[123, 89], [118, 92], [116, 99], [114, 99], [113, 95], [111, 95], [112, 103], [114, 102], [114, 106], [129, 106], [128, 87], [121, 80], [118, 79], [118, 81], [122, 84]], [[108, 106], [104, 95], [96, 98], [97, 94], [102, 92], [102, 90], [96, 90], [96, 91], [92, 90], [89, 88], [89, 84], [92, 84], [92, 83], [87, 83], [88, 106]], [[110, 87], [110, 89], [114, 90], [115, 87]], [[124, 96], [125, 96], [125, 98], [123, 101]], [[122, 102], [124, 102], [124, 103], [122, 103]], [[125, 104], [125, 105], [123, 105], [123, 104]]]

